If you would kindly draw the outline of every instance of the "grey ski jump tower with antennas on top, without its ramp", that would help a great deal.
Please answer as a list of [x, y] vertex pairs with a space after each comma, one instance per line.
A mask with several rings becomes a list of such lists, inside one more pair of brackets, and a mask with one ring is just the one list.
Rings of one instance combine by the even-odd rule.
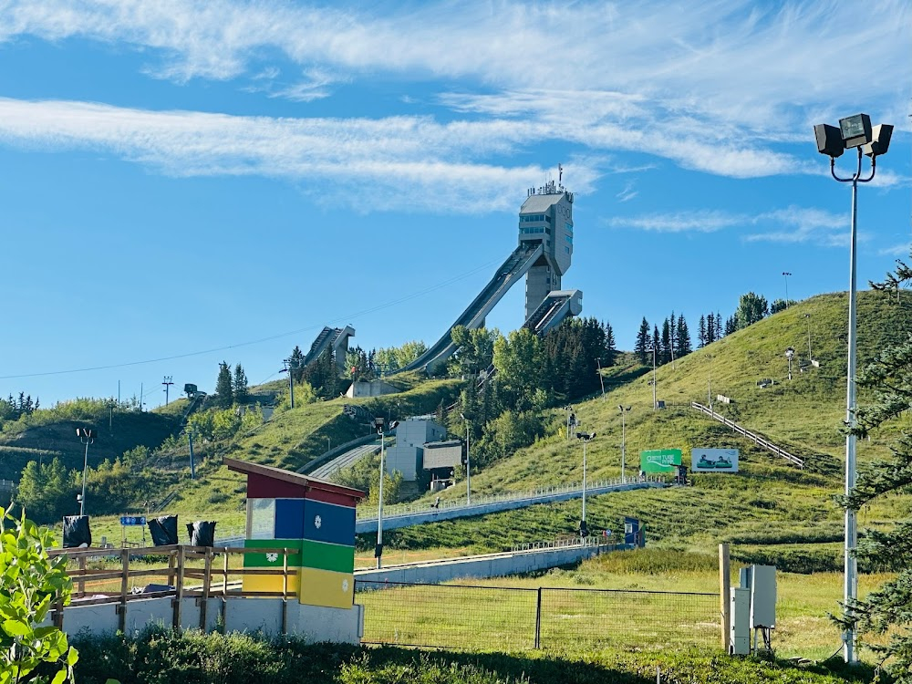
[[[563, 177], [563, 169], [560, 172]], [[526, 192], [519, 210], [519, 243], [541, 243], [544, 247], [544, 253], [525, 276], [528, 318], [549, 292], [561, 289], [561, 276], [573, 257], [573, 192], [560, 181], [548, 181]]]

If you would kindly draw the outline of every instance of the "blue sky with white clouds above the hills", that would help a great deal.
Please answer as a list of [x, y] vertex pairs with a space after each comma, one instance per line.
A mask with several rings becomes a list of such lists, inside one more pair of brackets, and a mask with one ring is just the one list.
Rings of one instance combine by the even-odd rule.
[[[783, 271], [845, 290], [812, 127], [858, 111], [896, 125], [860, 192], [880, 278], [909, 250], [910, 56], [900, 0], [0, 2], [0, 396], [154, 407], [222, 360], [281, 377], [324, 325], [431, 344], [558, 163], [564, 286], [620, 347], [784, 297]], [[522, 324], [521, 289], [489, 325]]]

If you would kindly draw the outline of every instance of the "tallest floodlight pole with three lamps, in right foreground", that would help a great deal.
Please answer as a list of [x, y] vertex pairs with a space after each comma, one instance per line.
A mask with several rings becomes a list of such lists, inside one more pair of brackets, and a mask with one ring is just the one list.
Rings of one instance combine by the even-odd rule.
[[[856, 114], [854, 117], [839, 119], [839, 127], [828, 124], [814, 126], [814, 138], [817, 142], [817, 151], [830, 158], [830, 175], [839, 182], [852, 183], [852, 214], [849, 239], [849, 338], [848, 338], [848, 364], [845, 380], [845, 422], [849, 431], [845, 437], [845, 495], [851, 494], [855, 489], [855, 366], [857, 354], [857, 324], [856, 324], [856, 234], [858, 221], [858, 183], [866, 183], [874, 179], [876, 172], [877, 156], [886, 154], [893, 135], [893, 126], [878, 124], [871, 126], [871, 119], [866, 114]], [[836, 157], [845, 150], [858, 149], [858, 161], [855, 173], [848, 178], [836, 175]], [[862, 155], [871, 158], [871, 173], [866, 178], [861, 177]], [[858, 530], [855, 510], [845, 509], [845, 582], [843, 591], [844, 617], [851, 620], [855, 617], [854, 605], [858, 598], [858, 565], [855, 560], [855, 545], [857, 544]], [[843, 658], [847, 663], [855, 663], [858, 654], [855, 648], [855, 627], [847, 627], [843, 633]]]

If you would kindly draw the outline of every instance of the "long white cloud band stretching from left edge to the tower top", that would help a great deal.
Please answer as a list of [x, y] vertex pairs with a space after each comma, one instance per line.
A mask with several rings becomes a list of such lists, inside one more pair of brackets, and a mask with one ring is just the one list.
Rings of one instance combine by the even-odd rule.
[[[325, 199], [332, 188], [365, 211], [513, 211], [517, 189], [540, 184], [544, 169], [478, 160], [517, 136], [512, 123], [496, 121], [273, 119], [0, 98], [0, 142], [104, 150], [176, 176], [320, 178], [304, 192]], [[586, 160], [566, 161], [565, 172], [584, 193], [598, 176]]]

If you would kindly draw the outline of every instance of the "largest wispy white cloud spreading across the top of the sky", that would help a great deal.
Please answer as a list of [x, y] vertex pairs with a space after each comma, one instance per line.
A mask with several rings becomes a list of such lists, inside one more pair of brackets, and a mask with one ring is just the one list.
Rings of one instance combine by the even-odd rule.
[[[910, 70], [912, 5], [868, 3], [861, 24], [856, 13], [855, 5], [825, 0], [444, 0], [373, 9], [7, 0], [0, 41], [78, 37], [133, 45], [161, 78], [236, 78], [241, 87], [298, 101], [328, 97], [340, 79], [443, 78], [461, 93], [442, 93], [438, 101], [467, 127], [472, 119], [510, 121], [529, 135], [552, 129], [548, 140], [590, 150], [634, 150], [690, 170], [751, 178], [816, 172], [782, 146], [805, 144], [812, 123], [855, 109], [859, 98], [872, 109], [902, 110], [896, 82]], [[545, 45], [546, 53], [530, 49]], [[276, 64], [306, 76], [274, 83]], [[507, 134], [494, 144], [512, 149], [517, 138]]]

